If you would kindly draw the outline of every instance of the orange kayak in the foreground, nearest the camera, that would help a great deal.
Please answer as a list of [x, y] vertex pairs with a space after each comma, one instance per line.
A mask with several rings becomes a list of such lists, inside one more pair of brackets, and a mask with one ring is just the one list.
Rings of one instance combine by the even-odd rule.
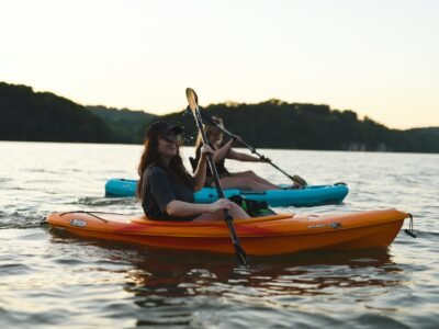
[[[312, 249], [385, 248], [409, 215], [396, 209], [338, 215], [282, 214], [235, 219], [248, 254], [285, 254]], [[54, 228], [81, 237], [171, 249], [234, 253], [229, 232], [218, 222], [161, 222], [145, 216], [69, 212], [47, 216]]]

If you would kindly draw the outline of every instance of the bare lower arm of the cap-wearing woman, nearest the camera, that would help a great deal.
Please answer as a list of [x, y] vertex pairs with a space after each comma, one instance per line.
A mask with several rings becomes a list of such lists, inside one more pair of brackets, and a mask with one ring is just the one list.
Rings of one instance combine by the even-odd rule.
[[219, 198], [210, 204], [189, 203], [173, 200], [166, 206], [166, 212], [171, 216], [184, 217], [201, 215], [203, 213], [215, 213], [221, 209], [230, 209], [230, 207], [232, 201], [228, 198]]

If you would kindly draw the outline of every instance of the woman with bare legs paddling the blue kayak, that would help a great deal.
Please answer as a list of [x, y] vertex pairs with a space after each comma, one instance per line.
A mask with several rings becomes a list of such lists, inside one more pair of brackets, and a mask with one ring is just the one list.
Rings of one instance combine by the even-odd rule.
[[[213, 116], [212, 121], [221, 127], [224, 127], [223, 120], [217, 116]], [[205, 125], [204, 131], [206, 137], [209, 139], [211, 148], [214, 152], [214, 161], [216, 164], [216, 169], [219, 174], [221, 184], [224, 189], [239, 189], [239, 190], [248, 190], [248, 191], [257, 191], [262, 192], [267, 190], [281, 190], [279, 185], [272, 184], [266, 179], [257, 175], [254, 171], [240, 171], [240, 172], [229, 172], [225, 168], [225, 159], [238, 160], [244, 162], [269, 162], [268, 158], [257, 158], [246, 154], [241, 154], [232, 149], [232, 145], [234, 139], [230, 138], [227, 143], [223, 143], [224, 134], [223, 132], [215, 127], [214, 125]], [[201, 136], [199, 135], [195, 144], [196, 156], [194, 160], [194, 164], [198, 163], [201, 157], [201, 148], [203, 147], [203, 141]], [[212, 179], [212, 172], [207, 168], [206, 172], [206, 185], [213, 186], [214, 182]], [[293, 185], [293, 188], [299, 188], [299, 185]]]

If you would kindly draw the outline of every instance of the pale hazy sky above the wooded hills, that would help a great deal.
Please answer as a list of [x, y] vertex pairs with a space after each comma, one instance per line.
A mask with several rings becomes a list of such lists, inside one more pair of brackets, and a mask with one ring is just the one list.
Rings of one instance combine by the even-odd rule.
[[439, 126], [436, 0], [0, 0], [0, 81], [81, 104], [325, 103]]

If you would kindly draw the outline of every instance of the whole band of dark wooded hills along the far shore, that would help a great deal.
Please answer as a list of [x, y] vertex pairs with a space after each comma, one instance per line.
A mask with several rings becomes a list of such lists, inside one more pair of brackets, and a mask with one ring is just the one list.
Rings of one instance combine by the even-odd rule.
[[[205, 111], [223, 117], [228, 131], [255, 147], [439, 152], [439, 127], [389, 129], [328, 105], [272, 99], [258, 104], [212, 104]], [[196, 127], [190, 112], [156, 116], [126, 109], [85, 107], [30, 87], [0, 83], [0, 140], [137, 144], [155, 120], [181, 125], [184, 144], [194, 145]]]

